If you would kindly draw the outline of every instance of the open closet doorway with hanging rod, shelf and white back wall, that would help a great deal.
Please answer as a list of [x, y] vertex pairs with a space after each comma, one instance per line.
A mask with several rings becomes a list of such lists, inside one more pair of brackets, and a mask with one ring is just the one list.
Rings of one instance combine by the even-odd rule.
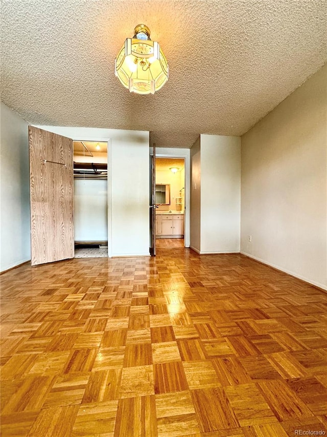
[[108, 257], [108, 144], [73, 141], [75, 258]]

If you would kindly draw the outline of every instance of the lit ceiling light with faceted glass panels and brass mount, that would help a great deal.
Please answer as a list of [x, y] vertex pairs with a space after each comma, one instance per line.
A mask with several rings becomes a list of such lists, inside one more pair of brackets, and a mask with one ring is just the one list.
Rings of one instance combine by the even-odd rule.
[[115, 75], [125, 88], [137, 94], [154, 94], [168, 80], [168, 64], [150, 29], [138, 24], [115, 59]]

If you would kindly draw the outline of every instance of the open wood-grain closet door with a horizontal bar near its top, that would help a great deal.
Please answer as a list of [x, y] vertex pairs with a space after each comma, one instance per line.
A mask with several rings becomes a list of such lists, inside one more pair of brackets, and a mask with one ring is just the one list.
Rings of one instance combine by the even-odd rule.
[[74, 257], [73, 141], [29, 126], [31, 264]]

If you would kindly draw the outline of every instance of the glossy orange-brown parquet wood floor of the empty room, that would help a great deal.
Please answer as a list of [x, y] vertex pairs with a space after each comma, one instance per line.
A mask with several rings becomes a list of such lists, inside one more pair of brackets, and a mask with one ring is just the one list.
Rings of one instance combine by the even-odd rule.
[[327, 433], [327, 294], [300, 280], [159, 248], [1, 281], [3, 437]]

